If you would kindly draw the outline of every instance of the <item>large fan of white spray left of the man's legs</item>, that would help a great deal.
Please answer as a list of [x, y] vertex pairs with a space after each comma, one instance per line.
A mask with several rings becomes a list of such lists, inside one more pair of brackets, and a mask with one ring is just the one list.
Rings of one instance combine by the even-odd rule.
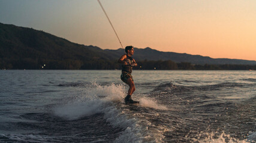
[[104, 108], [110, 101], [122, 101], [124, 87], [122, 85], [106, 85], [85, 88], [82, 95], [73, 100], [58, 105], [53, 112], [68, 120], [76, 120], [96, 113], [104, 113]]

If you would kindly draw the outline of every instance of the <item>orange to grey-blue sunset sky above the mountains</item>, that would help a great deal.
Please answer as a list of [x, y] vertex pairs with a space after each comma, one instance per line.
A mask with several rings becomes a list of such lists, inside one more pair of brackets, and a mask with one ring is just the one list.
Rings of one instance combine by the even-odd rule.
[[[256, 60], [255, 0], [101, 0], [122, 45]], [[121, 45], [97, 0], [0, 0], [0, 23], [71, 42]]]

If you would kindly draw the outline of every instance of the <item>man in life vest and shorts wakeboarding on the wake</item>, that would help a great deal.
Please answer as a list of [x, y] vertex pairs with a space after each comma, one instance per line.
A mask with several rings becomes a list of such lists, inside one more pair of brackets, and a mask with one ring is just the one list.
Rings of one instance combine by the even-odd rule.
[[118, 60], [118, 63], [122, 64], [121, 80], [129, 85], [128, 94], [127, 97], [125, 97], [125, 104], [135, 104], [138, 103], [138, 101], [134, 101], [131, 99], [131, 95], [135, 91], [134, 81], [132, 79], [131, 72], [132, 66], [138, 65], [131, 57], [134, 54], [133, 46], [125, 47], [125, 52], [127, 54], [122, 55], [121, 58], [119, 58]]

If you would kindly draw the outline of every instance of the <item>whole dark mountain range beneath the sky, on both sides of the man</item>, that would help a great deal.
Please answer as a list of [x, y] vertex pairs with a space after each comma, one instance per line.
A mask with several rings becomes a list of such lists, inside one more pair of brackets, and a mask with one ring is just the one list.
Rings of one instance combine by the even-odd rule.
[[[256, 61], [134, 48], [136, 61], [171, 60], [192, 64], [247, 64]], [[0, 69], [115, 69], [124, 49], [101, 49], [70, 42], [41, 30], [0, 23]], [[115, 62], [113, 62], [115, 61]]]

